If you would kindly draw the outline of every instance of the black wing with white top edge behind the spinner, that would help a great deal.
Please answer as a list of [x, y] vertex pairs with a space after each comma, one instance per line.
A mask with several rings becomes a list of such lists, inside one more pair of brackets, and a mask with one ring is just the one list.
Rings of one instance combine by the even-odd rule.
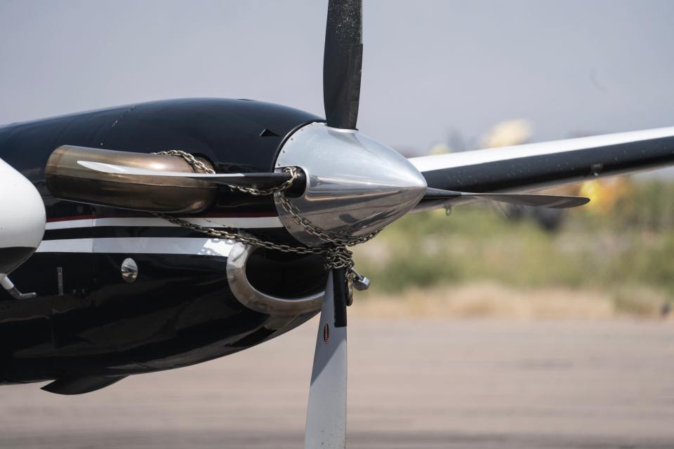
[[[674, 127], [409, 159], [432, 189], [531, 192], [674, 165]], [[466, 199], [424, 199], [416, 210]]]

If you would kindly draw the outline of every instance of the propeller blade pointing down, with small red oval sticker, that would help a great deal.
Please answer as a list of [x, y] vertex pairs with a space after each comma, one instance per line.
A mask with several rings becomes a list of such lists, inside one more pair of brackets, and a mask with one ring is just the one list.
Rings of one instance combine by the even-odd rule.
[[328, 273], [311, 372], [305, 449], [346, 446], [345, 286], [344, 269]]

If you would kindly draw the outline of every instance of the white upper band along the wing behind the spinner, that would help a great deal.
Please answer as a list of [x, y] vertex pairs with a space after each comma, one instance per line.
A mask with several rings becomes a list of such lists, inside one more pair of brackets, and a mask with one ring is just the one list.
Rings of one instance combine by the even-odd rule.
[[409, 161], [421, 172], [442, 170], [443, 168], [474, 166], [480, 163], [508, 161], [528, 156], [541, 156], [572, 152], [579, 149], [606, 147], [621, 143], [639, 142], [674, 136], [674, 126], [630, 133], [593, 135], [588, 138], [555, 140], [553, 142], [530, 143], [515, 147], [479, 149], [473, 152], [439, 154], [435, 156], [413, 157]]

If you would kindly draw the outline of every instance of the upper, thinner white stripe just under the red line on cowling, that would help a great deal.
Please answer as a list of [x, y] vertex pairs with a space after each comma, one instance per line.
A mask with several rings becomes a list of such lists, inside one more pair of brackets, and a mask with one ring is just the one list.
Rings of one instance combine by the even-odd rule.
[[[279, 217], [182, 217], [183, 220], [194, 225], [207, 227], [235, 227], [244, 229], [283, 227]], [[159, 217], [121, 217], [121, 218], [94, 218], [86, 220], [66, 220], [47, 223], [46, 229], [72, 229], [77, 227], [178, 227]]]

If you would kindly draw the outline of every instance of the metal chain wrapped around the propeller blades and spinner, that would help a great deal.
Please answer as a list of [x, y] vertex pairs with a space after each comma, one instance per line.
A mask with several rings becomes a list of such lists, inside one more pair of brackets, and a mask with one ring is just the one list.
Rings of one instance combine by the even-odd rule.
[[[216, 170], [213, 170], [213, 168], [206, 166], [204, 162], [199, 161], [199, 159], [194, 157], [193, 154], [184, 152], [180, 149], [172, 149], [170, 151], [157, 152], [152, 154], [157, 154], [159, 156], [180, 157], [183, 158], [187, 163], [189, 163], [190, 166], [192, 166], [192, 168], [197, 172], [209, 174], [216, 173]], [[283, 182], [282, 185], [271, 187], [270, 189], [255, 189], [253, 187], [241, 187], [237, 185], [227, 185], [227, 187], [230, 187], [230, 189], [238, 190], [239, 192], [244, 192], [255, 196], [274, 195], [275, 198], [279, 200], [279, 203], [284, 208], [284, 210], [286, 210], [286, 212], [291, 215], [294, 222], [303, 227], [303, 229], [309, 234], [312, 234], [313, 236], [319, 238], [321, 241], [328, 243], [327, 246], [319, 248], [310, 248], [308, 246], [291, 246], [286, 245], [284, 243], [275, 243], [272, 241], [265, 241], [262, 239], [258, 239], [255, 236], [243, 234], [242, 232], [238, 232], [237, 230], [234, 230], [234, 228], [230, 227], [227, 227], [227, 229], [216, 229], [212, 227], [195, 225], [194, 223], [190, 223], [187, 220], [183, 220], [178, 217], [173, 217], [171, 215], [166, 215], [163, 213], [157, 213], [155, 215], [157, 215], [157, 217], [161, 217], [164, 220], [173, 223], [174, 225], [178, 225], [185, 229], [190, 229], [191, 231], [199, 232], [201, 234], [206, 234], [208, 236], [215, 237], [216, 239], [239, 241], [253, 246], [260, 246], [262, 248], [266, 248], [269, 250], [282, 251], [284, 253], [295, 253], [302, 255], [310, 255], [310, 254], [323, 255], [325, 257], [324, 268], [326, 269], [326, 271], [339, 268], [345, 269], [346, 272], [345, 274], [348, 279], [349, 288], [352, 285], [355, 286], [358, 290], [365, 290], [366, 288], [368, 288], [369, 280], [364, 276], [361, 276], [353, 268], [354, 267], [353, 253], [351, 250], [348, 249], [348, 247], [355, 246], [360, 243], [365, 243], [366, 241], [373, 239], [377, 234], [379, 234], [380, 231], [377, 230], [365, 236], [357, 237], [356, 239], [345, 239], [333, 236], [328, 232], [324, 231], [324, 229], [321, 229], [313, 225], [309, 220], [307, 220], [300, 214], [300, 211], [295, 206], [293, 206], [293, 204], [289, 201], [289, 199], [286, 198], [286, 196], [283, 193], [284, 191], [289, 189], [293, 185], [293, 182], [295, 182], [295, 180], [297, 179], [298, 177], [297, 168], [285, 167], [283, 170], [284, 172], [289, 173], [290, 178], [285, 182]]]

